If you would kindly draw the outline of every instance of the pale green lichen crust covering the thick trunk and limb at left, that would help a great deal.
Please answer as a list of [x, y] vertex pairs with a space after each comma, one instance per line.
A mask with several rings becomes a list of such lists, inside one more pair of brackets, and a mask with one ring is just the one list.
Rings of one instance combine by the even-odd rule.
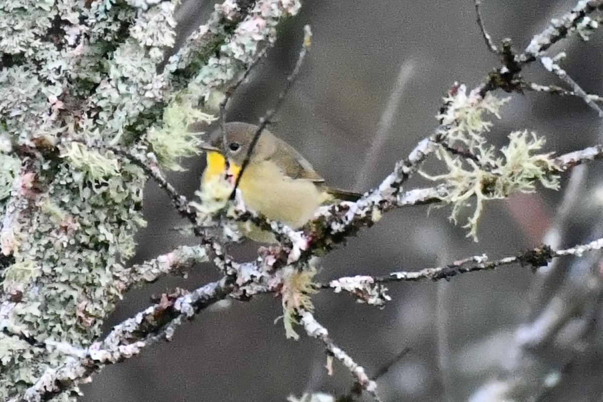
[[[1, 150], [14, 145], [34, 155], [21, 156], [27, 162], [21, 168], [13, 155], [0, 154], [2, 251], [14, 259], [0, 274], [7, 287], [0, 327], [8, 333], [90, 345], [122, 297], [123, 278], [118, 286], [114, 274], [133, 255], [134, 234], [144, 225], [142, 170], [112, 152], [63, 139], [154, 151], [163, 166], [177, 168], [178, 158], [192, 154], [196, 141], [195, 134], [181, 130], [194, 116], [186, 105], [197, 105], [245, 65], [233, 58], [239, 54], [230, 49], [233, 42], [245, 43], [240, 55], [250, 60], [264, 40], [273, 40], [279, 19], [297, 12], [289, 0], [257, 1], [246, 19], [263, 21], [257, 31], [253, 25], [236, 31], [242, 16], [228, 20], [226, 11], [215, 12], [216, 34], [199, 40], [198, 52], [189, 51], [192, 38], [179, 53], [187, 56], [175, 55], [178, 66], [168, 63], [158, 71], [163, 51], [174, 43], [177, 4], [24, 0], [0, 5]], [[212, 68], [226, 68], [204, 69], [209, 55], [226, 44], [224, 60], [212, 61]], [[195, 87], [178, 93], [195, 76], [200, 78]], [[171, 122], [168, 105], [178, 105], [186, 119]], [[151, 127], [156, 131], [148, 132]], [[0, 332], [2, 400], [65, 362], [58, 350], [26, 344]], [[74, 400], [77, 383], [65, 391], [53, 400]]]

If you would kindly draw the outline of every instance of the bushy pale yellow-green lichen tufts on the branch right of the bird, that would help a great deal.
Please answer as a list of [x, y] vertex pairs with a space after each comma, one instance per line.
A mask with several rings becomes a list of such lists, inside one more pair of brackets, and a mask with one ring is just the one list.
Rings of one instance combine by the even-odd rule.
[[508, 101], [488, 93], [469, 93], [466, 87], [457, 86], [444, 102], [444, 113], [437, 116], [442, 124], [440, 135], [453, 148], [467, 152], [471, 157], [450, 154], [440, 146], [435, 154], [446, 165], [447, 173], [426, 178], [446, 184], [448, 195], [442, 201], [452, 205], [450, 220], [458, 224], [461, 213], [475, 203], [473, 213], [464, 228], [467, 236], [477, 240], [478, 222], [484, 203], [490, 199], [507, 198], [514, 192], [533, 192], [536, 182], [549, 189], [558, 189], [559, 177], [554, 174], [551, 154], [538, 154], [545, 140], [528, 131], [509, 135], [509, 143], [499, 151], [489, 145], [484, 134], [492, 127], [485, 119], [486, 113], [500, 118], [500, 107]]

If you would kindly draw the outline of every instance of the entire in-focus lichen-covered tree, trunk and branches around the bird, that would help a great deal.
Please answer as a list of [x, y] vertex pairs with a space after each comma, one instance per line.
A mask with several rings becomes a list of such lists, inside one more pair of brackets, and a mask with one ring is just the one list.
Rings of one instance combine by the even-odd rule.
[[[528, 63], [540, 58], [563, 75], [545, 52], [573, 33], [586, 39], [598, 27], [601, 0], [579, 1], [534, 36], [523, 54], [513, 51], [510, 40], [493, 44], [477, 1], [484, 40], [500, 55], [502, 66], [473, 90], [455, 84], [444, 98], [433, 133], [391, 174], [356, 203], [322, 207], [300, 230], [246, 210], [236, 204], [241, 201], [237, 197], [233, 209], [221, 206], [214, 215], [203, 215], [207, 203], [186, 199], [163, 174], [163, 169], [181, 169], [178, 160], [198, 152], [198, 133], [190, 133], [189, 124], [215, 119], [197, 107], [227, 88], [239, 72], [249, 71], [276, 39], [277, 24], [297, 13], [300, 2], [226, 0], [168, 60], [164, 55], [174, 46], [177, 0], [22, 3], [17, 8], [0, 5], [2, 400], [73, 400], [78, 385], [90, 375], [153, 342], [171, 339], [178, 325], [215, 301], [266, 293], [280, 295], [288, 336], [294, 334], [292, 325], [298, 318], [306, 333], [322, 341], [329, 356], [379, 400], [374, 380], [315, 320], [310, 295], [316, 287], [346, 291], [379, 306], [389, 300], [384, 283], [449, 278], [512, 263], [535, 268], [555, 257], [579, 257], [603, 247], [599, 239], [564, 250], [540, 247], [500, 260], [474, 256], [416, 272], [312, 284], [314, 257], [395, 207], [450, 203], [456, 218], [461, 207], [475, 201], [468, 222], [475, 234], [485, 200], [534, 190], [537, 182], [557, 188], [558, 174], [601, 158], [600, 145], [556, 158], [538, 153], [544, 140], [528, 131], [514, 131], [509, 144], [496, 150], [487, 146], [485, 133], [492, 123], [483, 119], [488, 113], [498, 116], [506, 101], [496, 98], [494, 90], [542, 89], [523, 80]], [[570, 84], [570, 90], [558, 92], [582, 96], [591, 107], [598, 101]], [[601, 114], [598, 105], [595, 110]], [[261, 124], [273, 113], [269, 111]], [[441, 183], [403, 189], [431, 155], [443, 162], [446, 172], [421, 174]], [[150, 179], [188, 219], [200, 245], [128, 267], [134, 234], [145, 225], [142, 190]], [[279, 246], [262, 250], [253, 262], [236, 262], [213, 233], [226, 233], [230, 218], [273, 231]], [[125, 291], [208, 260], [218, 266], [219, 281], [192, 292], [165, 294], [99, 340], [101, 325]]]

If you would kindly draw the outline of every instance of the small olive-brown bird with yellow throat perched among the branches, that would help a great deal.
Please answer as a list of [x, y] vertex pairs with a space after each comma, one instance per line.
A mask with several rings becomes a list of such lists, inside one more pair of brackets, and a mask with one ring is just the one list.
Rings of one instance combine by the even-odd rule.
[[[211, 134], [210, 143], [201, 146], [207, 151], [202, 188], [224, 174], [228, 175], [231, 183], [236, 182], [257, 128], [254, 124], [230, 122], [224, 125], [226, 141], [219, 128]], [[361, 196], [324, 184], [324, 179], [310, 162], [266, 129], [253, 148], [238, 188], [245, 206], [292, 228], [299, 228], [308, 222], [321, 204], [336, 200], [356, 201]], [[242, 226], [241, 230], [245, 236], [257, 242], [274, 242], [271, 233], [260, 231], [257, 227], [247, 225]]]

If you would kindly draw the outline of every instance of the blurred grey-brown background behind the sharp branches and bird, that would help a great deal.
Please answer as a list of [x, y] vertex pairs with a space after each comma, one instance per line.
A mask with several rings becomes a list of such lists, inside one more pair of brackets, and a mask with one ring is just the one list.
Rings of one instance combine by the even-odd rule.
[[[511, 37], [517, 50], [575, 5], [484, 3], [485, 25], [495, 42]], [[213, 4], [183, 1], [182, 37], [206, 20]], [[305, 1], [300, 14], [280, 26], [276, 46], [239, 89], [230, 121], [257, 122], [274, 104], [297, 59], [305, 24], [314, 32], [312, 48], [271, 131], [305, 155], [328, 183], [359, 192], [376, 186], [432, 133], [441, 99], [455, 81], [473, 88], [499, 66], [484, 45], [472, 0]], [[602, 50], [603, 33], [597, 31], [589, 42], [564, 41], [551, 55], [566, 51], [563, 68], [587, 92], [602, 93]], [[537, 63], [526, 68], [525, 77], [561, 85]], [[384, 113], [393, 116], [385, 129], [380, 128]], [[600, 128], [596, 113], [579, 98], [525, 93], [513, 95], [502, 108], [488, 138], [500, 146], [513, 130], [533, 130], [546, 136], [547, 151], [562, 154], [600, 143]], [[186, 166], [188, 171], [170, 177], [192, 196], [203, 157]], [[437, 166], [426, 169], [437, 172]], [[427, 207], [394, 210], [324, 257], [319, 277], [384, 275], [482, 253], [496, 259], [535, 247], [551, 227], [560, 229], [559, 247], [601, 237], [601, 163], [573, 174], [573, 195], [564, 192], [569, 178], [564, 175], [560, 192], [538, 188], [534, 195], [488, 203], [477, 243], [447, 221], [449, 209], [429, 215]], [[415, 177], [406, 189], [429, 185]], [[563, 199], [569, 207], [560, 215]], [[154, 183], [147, 187], [145, 216], [148, 227], [139, 233], [133, 263], [195, 243], [172, 230], [183, 222]], [[230, 251], [249, 260], [257, 245], [233, 245]], [[567, 258], [537, 274], [507, 266], [449, 282], [392, 284], [393, 300], [382, 310], [346, 294], [321, 292], [314, 297], [315, 316], [369, 375], [408, 348], [378, 379], [386, 401], [601, 400], [599, 258]], [[152, 295], [194, 289], [216, 278], [214, 266], [200, 265], [186, 279], [167, 277], [132, 291], [107, 329], [147, 307]], [[303, 335], [297, 342], [285, 339], [282, 322], [274, 324], [281, 313], [280, 300], [271, 295], [214, 306], [183, 325], [174, 342], [104, 369], [84, 387], [82, 400], [285, 401], [307, 391], [349, 392], [352, 380], [343, 366], [335, 362], [334, 375], [327, 375], [320, 342]], [[542, 331], [543, 325], [552, 329]]]

